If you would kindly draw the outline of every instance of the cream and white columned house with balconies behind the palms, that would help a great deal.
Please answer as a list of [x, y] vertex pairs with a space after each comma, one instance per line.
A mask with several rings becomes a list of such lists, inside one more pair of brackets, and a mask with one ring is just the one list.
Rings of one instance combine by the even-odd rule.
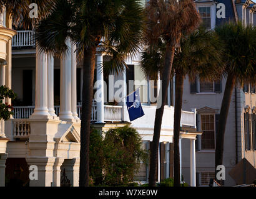
[[[5, 19], [5, 18], [4, 18]], [[11, 27], [11, 26], [10, 26]], [[4, 27], [5, 28], [5, 27]], [[76, 47], [67, 40], [69, 51], [60, 58], [40, 52], [33, 39], [33, 30], [9, 30], [6, 53], [6, 85], [17, 93], [12, 101], [13, 118], [2, 121], [0, 151], [1, 186], [77, 186], [79, 183], [79, 152], [82, 101], [82, 62], [77, 60]], [[7, 45], [7, 42], [6, 42]], [[1, 45], [2, 47], [2, 45]], [[140, 71], [140, 55], [127, 58], [128, 66], [122, 74], [105, 77], [101, 70], [107, 60], [100, 49], [96, 54], [95, 88], [104, 93], [101, 101], [92, 101], [91, 125], [101, 131], [130, 124], [142, 137], [143, 147], [150, 149], [154, 131], [156, 96], [160, 82], [150, 84]], [[4, 72], [3, 72], [4, 71]], [[123, 85], [115, 86], [119, 80]], [[111, 84], [113, 83], [114, 84]], [[170, 81], [160, 133], [157, 181], [173, 177], [174, 81]], [[124, 97], [136, 90], [145, 115], [130, 122]], [[116, 93], [119, 93], [116, 95]], [[7, 99], [6, 99], [7, 100]], [[11, 104], [11, 102], [10, 102]], [[186, 110], [186, 111], [185, 111]], [[194, 108], [184, 109], [181, 137], [190, 142], [190, 185], [196, 185]], [[4, 140], [4, 141], [3, 141]], [[3, 144], [2, 144], [3, 143]], [[37, 172], [38, 178], [31, 178]], [[147, 182], [149, 164], [141, 164], [135, 181]]]

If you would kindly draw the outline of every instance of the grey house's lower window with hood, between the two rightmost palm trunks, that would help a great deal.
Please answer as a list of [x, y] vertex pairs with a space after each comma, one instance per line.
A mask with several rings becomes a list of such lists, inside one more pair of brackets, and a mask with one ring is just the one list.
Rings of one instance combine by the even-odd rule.
[[201, 129], [203, 131], [201, 137], [201, 149], [215, 149], [215, 115], [201, 115]]

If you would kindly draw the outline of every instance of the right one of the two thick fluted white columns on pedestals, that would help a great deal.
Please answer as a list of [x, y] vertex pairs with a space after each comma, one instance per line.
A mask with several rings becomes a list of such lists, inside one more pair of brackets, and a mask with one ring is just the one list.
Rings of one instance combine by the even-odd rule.
[[[70, 39], [66, 41], [67, 46], [71, 47]], [[71, 53], [70, 48], [61, 55], [61, 106], [59, 119], [73, 119], [71, 112]]]

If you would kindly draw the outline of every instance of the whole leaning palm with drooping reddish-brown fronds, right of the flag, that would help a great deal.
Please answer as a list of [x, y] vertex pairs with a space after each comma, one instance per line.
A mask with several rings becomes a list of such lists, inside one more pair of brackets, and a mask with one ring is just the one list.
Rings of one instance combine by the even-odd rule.
[[[147, 20], [145, 25], [145, 44], [154, 48], [159, 39], [165, 41], [164, 63], [162, 70], [161, 97], [157, 100], [155, 111], [154, 136], [150, 155], [149, 186], [155, 186], [155, 172], [157, 169], [157, 155], [159, 150], [160, 129], [164, 104], [167, 98], [167, 88], [170, 82], [174, 50], [179, 44], [182, 32], [192, 32], [200, 22], [199, 13], [192, 0], [152, 0], [146, 7]], [[160, 107], [160, 108], [159, 108]]]

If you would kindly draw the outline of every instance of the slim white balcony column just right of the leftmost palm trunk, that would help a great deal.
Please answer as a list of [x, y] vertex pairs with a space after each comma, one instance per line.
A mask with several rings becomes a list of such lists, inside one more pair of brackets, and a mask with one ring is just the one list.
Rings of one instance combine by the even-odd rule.
[[104, 78], [102, 71], [103, 56], [101, 53], [96, 55], [97, 67], [97, 123], [104, 123]]

